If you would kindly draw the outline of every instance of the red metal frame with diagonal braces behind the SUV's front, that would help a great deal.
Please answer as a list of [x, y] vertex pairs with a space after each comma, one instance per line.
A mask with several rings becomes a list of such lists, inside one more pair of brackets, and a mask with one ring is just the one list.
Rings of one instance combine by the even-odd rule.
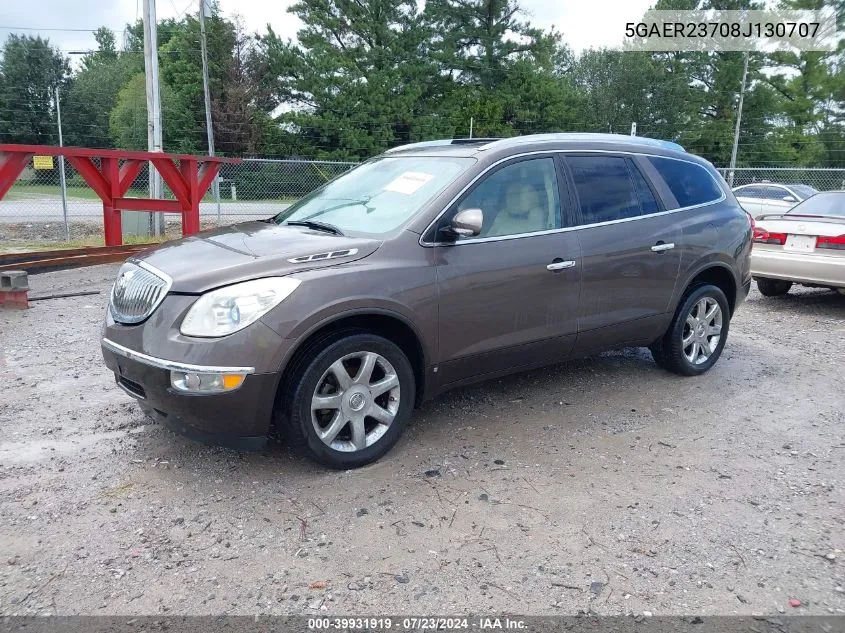
[[[221, 163], [240, 162], [238, 159], [216, 156], [0, 144], [0, 200], [33, 156], [64, 156], [100, 196], [103, 201], [106, 246], [120, 246], [123, 243], [121, 211], [181, 213], [182, 235], [197, 233], [200, 230], [200, 200], [214, 181]], [[95, 158], [100, 159], [99, 167], [94, 163]], [[124, 197], [147, 161], [161, 174], [176, 200]]]

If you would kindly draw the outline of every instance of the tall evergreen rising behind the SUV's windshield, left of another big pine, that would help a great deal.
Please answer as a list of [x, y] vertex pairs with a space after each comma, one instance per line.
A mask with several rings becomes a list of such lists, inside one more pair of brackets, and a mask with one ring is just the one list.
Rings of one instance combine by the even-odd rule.
[[309, 154], [364, 158], [451, 133], [438, 102], [437, 69], [423, 55], [427, 31], [414, 0], [300, 0], [289, 11], [304, 27], [298, 43], [268, 27], [262, 45], [280, 122]]

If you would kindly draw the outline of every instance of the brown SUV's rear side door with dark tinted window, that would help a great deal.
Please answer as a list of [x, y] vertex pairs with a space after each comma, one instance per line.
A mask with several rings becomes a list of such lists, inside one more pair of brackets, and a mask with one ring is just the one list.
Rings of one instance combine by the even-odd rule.
[[627, 155], [566, 154], [581, 245], [575, 353], [647, 344], [665, 329], [681, 231]]

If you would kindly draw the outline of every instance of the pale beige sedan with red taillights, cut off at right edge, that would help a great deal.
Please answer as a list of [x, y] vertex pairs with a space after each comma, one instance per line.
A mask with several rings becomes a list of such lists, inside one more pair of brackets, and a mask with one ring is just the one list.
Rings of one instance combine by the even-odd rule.
[[845, 294], [845, 191], [825, 191], [786, 213], [757, 216], [751, 275], [767, 297], [797, 283]]

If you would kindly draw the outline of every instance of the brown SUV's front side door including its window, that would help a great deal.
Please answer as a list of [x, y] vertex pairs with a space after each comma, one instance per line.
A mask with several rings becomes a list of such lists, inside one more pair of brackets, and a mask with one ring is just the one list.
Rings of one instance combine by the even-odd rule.
[[570, 204], [554, 157], [494, 168], [441, 227], [470, 208], [481, 232], [435, 246], [443, 386], [563, 360], [576, 335], [581, 253], [561, 231]]

